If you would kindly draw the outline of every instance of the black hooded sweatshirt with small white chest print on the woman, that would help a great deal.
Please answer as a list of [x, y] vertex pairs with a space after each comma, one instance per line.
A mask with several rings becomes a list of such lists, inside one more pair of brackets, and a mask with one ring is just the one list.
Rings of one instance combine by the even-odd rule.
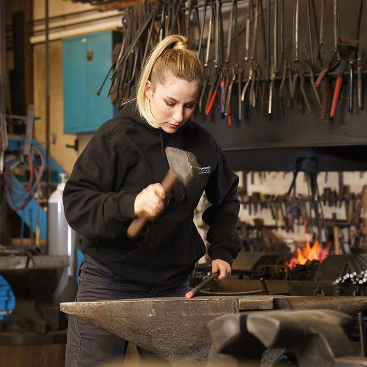
[[[130, 240], [126, 230], [136, 217], [136, 196], [167, 172], [165, 146], [192, 152], [202, 168], [186, 186], [176, 184], [164, 213]], [[208, 255], [232, 264], [242, 247], [234, 232], [237, 184], [238, 177], [204, 128], [188, 121], [167, 134], [141, 120], [135, 102], [129, 102], [94, 133], [75, 162], [63, 201], [70, 227], [84, 236], [85, 252], [123, 278], [164, 284], [187, 277], [205, 254], [192, 221], [204, 190], [211, 204], [203, 214], [210, 226]]]

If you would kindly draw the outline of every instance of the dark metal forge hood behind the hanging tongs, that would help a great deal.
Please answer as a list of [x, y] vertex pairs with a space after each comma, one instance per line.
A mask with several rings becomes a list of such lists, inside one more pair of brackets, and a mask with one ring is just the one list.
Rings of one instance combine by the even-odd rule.
[[[265, 3], [265, 1], [264, 1]], [[273, 1], [272, 1], [273, 3]], [[284, 20], [284, 51], [285, 57], [289, 55], [292, 62], [294, 58], [294, 47], [292, 46], [292, 17], [293, 17], [293, 5], [294, 1], [285, 0], [285, 20]], [[299, 1], [299, 50], [304, 52], [307, 48], [310, 54], [309, 40], [308, 40], [308, 24], [307, 24], [307, 3], [308, 1]], [[318, 16], [318, 25], [320, 27], [320, 11], [321, 1], [316, 0], [316, 10]], [[340, 37], [356, 38], [356, 22], [358, 6], [360, 1], [339, 1], [340, 11]], [[366, 4], [365, 4], [366, 5]], [[274, 26], [274, 6], [272, 6], [271, 13], [271, 55], [273, 55], [273, 26]], [[264, 8], [265, 18], [267, 10]], [[241, 13], [240, 13], [241, 14]], [[250, 61], [244, 61], [244, 44], [245, 44], [245, 32], [247, 12], [244, 12], [238, 18], [239, 27], [239, 45], [240, 45], [240, 68], [244, 69], [244, 78], [246, 79], [249, 74]], [[360, 30], [360, 46], [362, 51], [363, 67], [366, 69], [366, 57], [367, 55], [367, 6], [364, 6], [362, 11], [361, 30]], [[227, 22], [227, 21], [226, 21]], [[260, 22], [260, 21], [259, 21]], [[228, 22], [227, 22], [228, 23]], [[278, 24], [280, 27], [280, 24]], [[262, 40], [261, 29], [258, 25], [257, 29], [257, 43], [258, 54], [256, 62], [261, 66], [262, 75], [266, 72], [264, 68], [264, 55], [262, 52]], [[333, 53], [334, 35], [333, 35], [333, 1], [326, 1], [325, 18], [324, 18], [324, 30], [323, 40], [325, 49], [331, 49]], [[227, 40], [226, 30], [224, 32], [224, 39]], [[226, 42], [226, 41], [225, 41]], [[317, 43], [314, 34], [313, 39], [314, 58], [317, 55]], [[278, 47], [279, 47], [278, 41]], [[231, 67], [234, 55], [234, 44], [231, 45], [231, 59], [228, 64]], [[214, 47], [213, 47], [214, 48]], [[211, 50], [213, 52], [213, 50]], [[303, 57], [300, 55], [301, 64], [305, 65], [305, 72], [308, 73], [308, 68]], [[354, 58], [354, 54], [350, 57]], [[317, 70], [321, 68], [318, 62]], [[209, 68], [213, 69], [213, 60], [209, 64]], [[294, 65], [292, 63], [292, 65]], [[345, 70], [347, 71], [347, 69]], [[354, 71], [356, 71], [356, 62], [354, 63]], [[278, 62], [278, 73], [282, 75], [281, 62]], [[260, 98], [257, 98], [256, 107], [252, 108], [247, 102], [245, 104], [246, 118], [243, 120], [237, 119], [238, 103], [237, 92], [234, 91], [235, 96], [231, 104], [232, 126], [229, 126], [228, 118], [220, 118], [216, 112], [209, 114], [208, 116], [197, 115], [196, 120], [206, 129], [208, 129], [214, 138], [219, 142], [223, 149], [235, 150], [235, 149], [259, 149], [259, 148], [282, 148], [282, 147], [305, 147], [305, 146], [330, 146], [330, 145], [353, 145], [353, 144], [366, 144], [367, 137], [367, 109], [360, 111], [357, 105], [357, 78], [354, 75], [354, 94], [353, 94], [353, 111], [349, 113], [347, 111], [347, 87], [348, 77], [344, 75], [344, 81], [341, 91], [341, 99], [339, 101], [337, 114], [333, 120], [329, 120], [326, 117], [325, 120], [321, 120], [320, 109], [316, 104], [315, 96], [310, 87], [309, 79], [306, 77], [304, 89], [308, 102], [311, 107], [311, 113], [306, 109], [306, 106], [302, 100], [302, 96], [299, 92], [296, 92], [296, 97], [292, 101], [291, 106], [287, 106], [288, 93], [284, 88], [286, 97], [284, 98], [284, 117], [280, 116], [278, 106], [278, 89], [279, 85], [275, 84], [274, 97], [273, 97], [273, 111], [272, 114], [268, 114], [268, 98], [269, 92], [265, 94], [264, 109], [261, 111]], [[366, 82], [366, 79], [364, 83]], [[279, 81], [280, 83], [280, 81]], [[298, 81], [299, 83], [299, 81]], [[329, 94], [329, 103], [327, 113], [330, 112], [330, 104], [334, 91], [335, 77], [331, 78], [331, 89]], [[364, 87], [365, 88], [365, 87]], [[323, 83], [318, 90], [320, 99], [322, 96]], [[366, 106], [367, 96], [364, 93], [364, 104]], [[247, 93], [248, 95], [248, 93]], [[248, 100], [248, 97], [246, 98]]]

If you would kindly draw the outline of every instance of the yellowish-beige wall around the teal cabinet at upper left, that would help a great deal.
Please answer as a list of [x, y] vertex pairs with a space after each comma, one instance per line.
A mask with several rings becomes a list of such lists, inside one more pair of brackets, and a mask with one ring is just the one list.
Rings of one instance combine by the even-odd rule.
[[[85, 23], [89, 23], [91, 18], [96, 18], [94, 12], [89, 14], [94, 10], [90, 4], [74, 3], [72, 1], [49, 1], [49, 17], [67, 16], [73, 13], [79, 13], [75, 15], [75, 19], [81, 18], [83, 23], [83, 12], [85, 11]], [[101, 18], [104, 14], [101, 13]], [[43, 34], [44, 29], [44, 18], [45, 18], [45, 1], [34, 0], [33, 1], [33, 19], [34, 19], [34, 29]], [[119, 17], [120, 18], [120, 17]], [[75, 21], [74, 19], [74, 21]], [[63, 22], [63, 18], [55, 20], [55, 24], [50, 24], [58, 26], [59, 23]], [[108, 22], [107, 22], [108, 23]], [[79, 24], [81, 27], [83, 24]], [[78, 34], [78, 32], [84, 32], [83, 30], [78, 30], [75, 26], [70, 30], [70, 34]], [[109, 25], [107, 25], [109, 26]], [[90, 30], [91, 31], [91, 30]], [[38, 33], [36, 36], [39, 37]], [[50, 39], [55, 38], [55, 35], [50, 34]], [[63, 101], [63, 66], [62, 66], [62, 40], [58, 39], [52, 40], [49, 43], [49, 68], [50, 68], [50, 134], [51, 141], [54, 142], [50, 145], [50, 154], [52, 158], [57, 161], [65, 170], [67, 174], [71, 173], [74, 162], [92, 134], [83, 134], [77, 136], [76, 134], [64, 134], [64, 101]], [[39, 38], [35, 38], [35, 42]], [[46, 62], [45, 62], [45, 43], [39, 42], [34, 44], [34, 105], [35, 105], [35, 116], [40, 116], [41, 119], [37, 120], [35, 123], [35, 138], [39, 142], [46, 141]], [[107, 72], [107, 70], [106, 70]], [[101, 80], [103, 77], [101, 76]], [[101, 96], [103, 98], [103, 96]], [[78, 103], [78, 101], [75, 101]], [[74, 140], [79, 138], [79, 151], [74, 149], [66, 148], [66, 144], [74, 145]]]

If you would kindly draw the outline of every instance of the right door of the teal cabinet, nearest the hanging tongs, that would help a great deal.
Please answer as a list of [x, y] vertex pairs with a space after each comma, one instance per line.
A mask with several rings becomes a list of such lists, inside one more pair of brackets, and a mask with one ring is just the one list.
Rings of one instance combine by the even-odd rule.
[[93, 55], [92, 61], [88, 62], [88, 122], [94, 130], [114, 116], [114, 105], [107, 97], [110, 78], [106, 80], [100, 95], [96, 94], [113, 61], [112, 35], [111, 31], [107, 31], [93, 34], [88, 39], [88, 51], [92, 51]]

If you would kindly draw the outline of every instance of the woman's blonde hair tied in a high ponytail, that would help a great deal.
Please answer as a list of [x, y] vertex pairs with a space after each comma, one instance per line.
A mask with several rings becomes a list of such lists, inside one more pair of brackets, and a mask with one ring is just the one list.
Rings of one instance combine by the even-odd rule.
[[150, 80], [154, 91], [157, 84], [164, 85], [167, 82], [167, 77], [186, 82], [197, 81], [199, 87], [203, 84], [203, 67], [196, 53], [189, 49], [188, 39], [184, 36], [172, 34], [164, 38], [153, 48], [139, 73], [138, 112], [154, 128], [159, 128], [160, 124], [151, 112], [150, 101], [145, 96], [145, 86]]

